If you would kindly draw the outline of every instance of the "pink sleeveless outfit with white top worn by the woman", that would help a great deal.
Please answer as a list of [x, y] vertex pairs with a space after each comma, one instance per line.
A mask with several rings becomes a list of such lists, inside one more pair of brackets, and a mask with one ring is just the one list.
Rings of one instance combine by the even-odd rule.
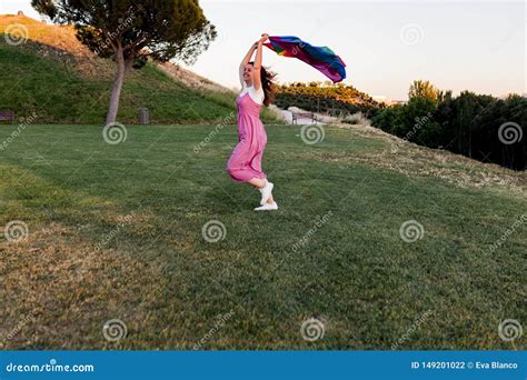
[[252, 99], [264, 101], [264, 90], [243, 87], [236, 99], [238, 106], [238, 144], [229, 161], [227, 172], [235, 182], [247, 182], [251, 178], [266, 178], [261, 171], [261, 158], [267, 144], [267, 133], [260, 120], [261, 104]]

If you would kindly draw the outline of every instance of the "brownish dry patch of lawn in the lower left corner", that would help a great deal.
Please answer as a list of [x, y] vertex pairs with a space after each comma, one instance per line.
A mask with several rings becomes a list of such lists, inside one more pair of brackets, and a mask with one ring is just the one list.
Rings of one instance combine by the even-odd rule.
[[123, 344], [138, 343], [167, 287], [159, 268], [112, 249], [96, 250], [58, 223], [30, 231], [22, 242], [3, 242], [0, 251], [3, 349], [119, 347], [102, 336], [110, 319], [127, 324]]

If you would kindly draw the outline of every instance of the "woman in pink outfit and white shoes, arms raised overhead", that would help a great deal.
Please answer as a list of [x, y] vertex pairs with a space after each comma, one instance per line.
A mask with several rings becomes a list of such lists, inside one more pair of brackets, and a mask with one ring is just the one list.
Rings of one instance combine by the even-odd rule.
[[[242, 91], [236, 99], [238, 107], [238, 144], [236, 146], [227, 171], [235, 182], [247, 182], [261, 193], [260, 206], [255, 211], [278, 210], [272, 199], [274, 184], [267, 180], [261, 170], [261, 157], [267, 144], [266, 129], [260, 121], [261, 106], [266, 107], [274, 100], [275, 74], [261, 66], [264, 42], [268, 34], [262, 34], [255, 42], [241, 61], [239, 76]], [[255, 62], [250, 59], [256, 50]]]

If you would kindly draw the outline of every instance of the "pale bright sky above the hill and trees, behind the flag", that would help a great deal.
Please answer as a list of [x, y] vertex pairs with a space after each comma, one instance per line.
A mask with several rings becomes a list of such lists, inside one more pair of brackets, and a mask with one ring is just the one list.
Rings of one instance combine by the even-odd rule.
[[[416, 79], [459, 93], [527, 92], [527, 10], [517, 1], [202, 0], [218, 38], [189, 67], [239, 88], [238, 66], [264, 32], [328, 46], [347, 64], [345, 83], [370, 96], [407, 99]], [[0, 13], [24, 11], [29, 0], [0, 0]], [[326, 77], [266, 49], [264, 64], [278, 81]], [[185, 64], [183, 64], [185, 66]]]

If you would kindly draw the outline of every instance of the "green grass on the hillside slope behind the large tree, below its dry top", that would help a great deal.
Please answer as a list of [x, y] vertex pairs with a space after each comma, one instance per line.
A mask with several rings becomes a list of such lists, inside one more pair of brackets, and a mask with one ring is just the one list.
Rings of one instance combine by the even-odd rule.
[[[11, 47], [0, 34], [0, 109], [13, 110], [18, 118], [34, 111], [39, 123], [102, 123], [113, 78], [81, 76], [73, 63], [64, 63], [72, 56], [53, 59], [52, 50], [44, 50], [49, 56], [42, 57], [41, 49], [32, 41]], [[101, 70], [112, 71], [106, 63]], [[118, 120], [137, 123], [141, 107], [150, 110], [152, 123], [213, 123], [235, 111], [230, 94], [187, 88], [152, 63], [128, 74]]]

